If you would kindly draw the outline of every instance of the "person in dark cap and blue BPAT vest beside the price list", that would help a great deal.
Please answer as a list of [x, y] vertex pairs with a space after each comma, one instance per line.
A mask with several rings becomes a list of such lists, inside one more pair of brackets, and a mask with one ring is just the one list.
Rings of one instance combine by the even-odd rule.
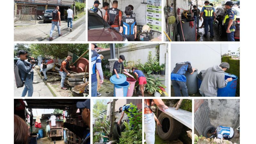
[[132, 8], [126, 6], [124, 13], [126, 17], [121, 21], [119, 33], [123, 33], [128, 41], [134, 41], [137, 33], [137, 23], [136, 19], [131, 17]]

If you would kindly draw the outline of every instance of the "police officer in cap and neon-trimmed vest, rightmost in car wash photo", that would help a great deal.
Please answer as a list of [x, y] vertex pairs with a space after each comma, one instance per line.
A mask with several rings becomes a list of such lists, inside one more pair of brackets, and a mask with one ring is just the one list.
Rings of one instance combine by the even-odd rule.
[[234, 33], [236, 30], [236, 11], [232, 8], [233, 3], [228, 1], [225, 4], [225, 8], [227, 9], [227, 13], [222, 21], [222, 25], [225, 25], [226, 33], [228, 36], [228, 41], [235, 41]]

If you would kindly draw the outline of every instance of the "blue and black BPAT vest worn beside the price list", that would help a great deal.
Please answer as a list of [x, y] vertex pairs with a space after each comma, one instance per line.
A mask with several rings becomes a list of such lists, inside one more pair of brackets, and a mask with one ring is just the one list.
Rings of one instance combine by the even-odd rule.
[[136, 24], [136, 19], [131, 17], [125, 17], [122, 19], [123, 21], [123, 34], [124, 35], [133, 35], [134, 26]]

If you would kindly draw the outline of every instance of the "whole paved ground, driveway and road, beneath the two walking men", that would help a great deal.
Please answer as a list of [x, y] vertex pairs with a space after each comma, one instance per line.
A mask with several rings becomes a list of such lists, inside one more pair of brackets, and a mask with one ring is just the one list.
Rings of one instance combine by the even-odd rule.
[[[64, 37], [67, 36], [66, 41], [85, 41], [85, 20], [84, 15], [80, 19], [73, 21], [71, 35], [67, 35], [67, 21], [61, 21], [61, 33], [64, 34]], [[14, 27], [14, 41], [43, 41], [49, 38], [51, 28], [52, 23], [43, 24], [42, 20], [32, 26]], [[58, 37], [57, 27], [54, 29], [53, 36]]]

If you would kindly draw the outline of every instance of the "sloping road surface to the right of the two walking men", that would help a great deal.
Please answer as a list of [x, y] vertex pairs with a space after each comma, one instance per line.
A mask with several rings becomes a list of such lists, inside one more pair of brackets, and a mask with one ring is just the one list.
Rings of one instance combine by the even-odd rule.
[[[59, 37], [58, 33], [52, 35], [54, 38], [52, 41], [85, 41], [85, 15], [76, 21], [73, 22], [72, 32], [69, 31], [67, 27], [62, 28], [60, 31], [63, 36]], [[49, 41], [49, 37], [44, 39], [44, 41]]]

